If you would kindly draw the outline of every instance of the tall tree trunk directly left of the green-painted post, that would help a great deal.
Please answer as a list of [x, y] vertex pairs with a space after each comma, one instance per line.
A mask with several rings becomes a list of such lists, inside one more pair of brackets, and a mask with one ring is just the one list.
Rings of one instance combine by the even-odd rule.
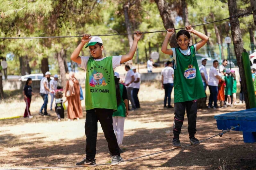
[[[229, 15], [234, 16], [237, 15], [237, 4], [234, 0], [228, 0], [228, 10]], [[242, 52], [244, 51], [244, 43], [242, 39], [242, 34], [240, 30], [240, 23], [238, 18], [233, 18], [229, 21], [231, 26], [231, 34], [233, 38], [233, 44], [234, 44], [234, 50], [236, 53], [236, 59], [237, 59], [237, 65], [239, 68], [239, 74], [241, 77], [241, 83], [243, 87], [246, 87], [246, 80], [245, 80], [245, 71], [244, 71], [244, 65], [242, 60]], [[245, 94], [245, 104], [246, 108], [250, 108], [249, 104], [249, 98], [248, 98], [248, 91], [247, 88], [244, 88], [244, 94]]]

